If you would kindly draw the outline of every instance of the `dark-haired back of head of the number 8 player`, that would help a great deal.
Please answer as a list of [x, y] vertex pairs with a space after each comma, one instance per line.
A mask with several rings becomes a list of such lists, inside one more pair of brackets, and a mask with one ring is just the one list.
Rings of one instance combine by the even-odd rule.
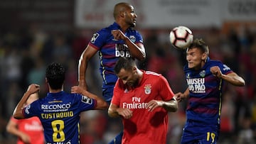
[[51, 89], [62, 89], [65, 80], [65, 69], [59, 63], [53, 62], [46, 68], [46, 81]]

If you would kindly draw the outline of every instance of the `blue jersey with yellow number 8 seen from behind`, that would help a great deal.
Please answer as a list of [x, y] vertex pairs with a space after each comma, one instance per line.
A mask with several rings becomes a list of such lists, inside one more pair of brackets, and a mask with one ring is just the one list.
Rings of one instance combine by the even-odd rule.
[[47, 144], [80, 143], [80, 112], [92, 110], [96, 101], [81, 94], [48, 93], [23, 109], [23, 116], [37, 116]]

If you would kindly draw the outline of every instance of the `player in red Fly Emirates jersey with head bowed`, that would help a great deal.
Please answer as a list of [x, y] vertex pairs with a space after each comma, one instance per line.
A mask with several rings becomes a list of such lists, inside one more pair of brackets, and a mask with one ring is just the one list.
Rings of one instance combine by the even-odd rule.
[[161, 74], [139, 70], [128, 57], [119, 58], [114, 72], [119, 79], [108, 113], [122, 117], [122, 143], [166, 143], [168, 111], [178, 109], [167, 80]]

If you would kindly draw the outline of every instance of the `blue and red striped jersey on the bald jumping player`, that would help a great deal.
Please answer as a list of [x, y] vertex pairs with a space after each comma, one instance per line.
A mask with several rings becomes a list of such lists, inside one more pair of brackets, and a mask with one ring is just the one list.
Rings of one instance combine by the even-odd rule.
[[[111, 32], [118, 29], [121, 30], [120, 26], [114, 22], [109, 27], [102, 28], [94, 33], [89, 43], [89, 45], [98, 50], [100, 56], [100, 74], [103, 79], [103, 88], [109, 84], [114, 87], [117, 81], [117, 76], [114, 74], [114, 65], [118, 57], [131, 57], [124, 40], [114, 40]], [[143, 43], [142, 35], [132, 28], [128, 28], [124, 35], [133, 43]]]

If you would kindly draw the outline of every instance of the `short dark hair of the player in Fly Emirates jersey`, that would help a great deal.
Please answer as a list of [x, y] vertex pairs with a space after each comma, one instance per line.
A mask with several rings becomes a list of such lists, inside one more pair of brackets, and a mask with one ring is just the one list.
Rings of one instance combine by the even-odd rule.
[[136, 66], [135, 59], [132, 57], [119, 57], [116, 65], [114, 65], [114, 73], [119, 74], [121, 69], [132, 70]]

